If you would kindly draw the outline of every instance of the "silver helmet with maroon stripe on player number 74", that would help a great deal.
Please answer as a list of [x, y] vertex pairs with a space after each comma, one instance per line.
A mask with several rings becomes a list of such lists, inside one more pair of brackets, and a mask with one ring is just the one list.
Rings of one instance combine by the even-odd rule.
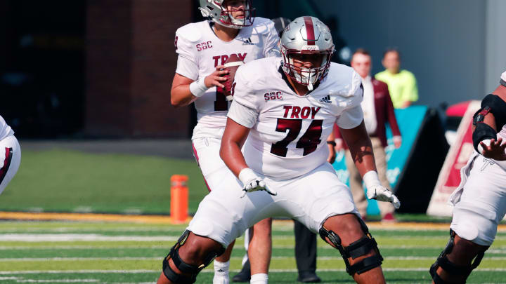
[[[283, 71], [287, 76], [313, 90], [313, 85], [321, 81], [330, 68], [330, 58], [334, 53], [334, 43], [330, 29], [318, 18], [299, 17], [285, 27], [280, 39], [283, 55]], [[294, 54], [310, 54], [321, 58], [320, 66], [313, 68], [295, 67]]]

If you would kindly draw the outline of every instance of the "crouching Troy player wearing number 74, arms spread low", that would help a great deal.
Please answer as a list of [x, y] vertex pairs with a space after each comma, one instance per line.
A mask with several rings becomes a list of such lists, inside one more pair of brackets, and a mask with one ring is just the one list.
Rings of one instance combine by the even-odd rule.
[[193, 283], [245, 229], [273, 216], [297, 219], [319, 232], [341, 252], [346, 271], [357, 283], [385, 283], [377, 244], [349, 189], [326, 161], [325, 141], [337, 123], [368, 197], [400, 205], [375, 171], [360, 106], [360, 76], [350, 67], [330, 63], [332, 36], [317, 18], [295, 19], [280, 42], [283, 58], [239, 67], [220, 151], [228, 173], [238, 178], [231, 182], [224, 177], [220, 190], [200, 203], [164, 259], [158, 283]]

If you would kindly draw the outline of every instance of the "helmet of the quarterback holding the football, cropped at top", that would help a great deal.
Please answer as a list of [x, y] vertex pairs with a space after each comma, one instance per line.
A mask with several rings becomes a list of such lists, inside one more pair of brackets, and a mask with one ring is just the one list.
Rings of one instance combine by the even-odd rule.
[[[200, 0], [199, 10], [204, 18], [209, 18], [219, 25], [225, 27], [233, 27], [234, 29], [242, 29], [253, 25], [254, 8], [252, 8], [251, 0], [242, 0], [245, 6], [238, 10], [227, 10], [223, 3], [227, 0]], [[233, 18], [232, 12], [243, 10], [245, 15], [243, 19]]]

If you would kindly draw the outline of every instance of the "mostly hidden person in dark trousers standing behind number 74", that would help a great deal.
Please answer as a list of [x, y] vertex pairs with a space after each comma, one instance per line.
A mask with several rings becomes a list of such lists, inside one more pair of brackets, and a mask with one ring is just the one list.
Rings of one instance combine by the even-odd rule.
[[[292, 22], [288, 18], [274, 18], [274, 27], [279, 36], [283, 33], [285, 27]], [[329, 162], [335, 161], [335, 151], [330, 151]], [[297, 270], [299, 277], [297, 280], [302, 283], [318, 283], [321, 279], [316, 275], [316, 234], [309, 231], [301, 222], [294, 220], [294, 233], [295, 233], [295, 261], [297, 262]], [[252, 232], [247, 231], [245, 234], [245, 249], [246, 252], [249, 247], [249, 236]], [[233, 282], [249, 282], [250, 267], [248, 255], [242, 259], [241, 271], [233, 276]]]

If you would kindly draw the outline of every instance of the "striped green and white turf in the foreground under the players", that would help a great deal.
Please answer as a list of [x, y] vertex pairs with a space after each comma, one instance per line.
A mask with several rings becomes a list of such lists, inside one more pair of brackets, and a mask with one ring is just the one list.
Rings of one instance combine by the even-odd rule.
[[[382, 229], [372, 234], [384, 256], [388, 283], [429, 283], [430, 264], [448, 231]], [[0, 222], [0, 283], [154, 283], [161, 259], [184, 226], [90, 222]], [[231, 259], [234, 274], [244, 253], [242, 238]], [[318, 275], [323, 283], [353, 283], [337, 250], [318, 241]], [[293, 225], [273, 226], [269, 283], [296, 283]], [[505, 283], [506, 234], [500, 232], [468, 283]], [[212, 267], [197, 278], [212, 283]]]

